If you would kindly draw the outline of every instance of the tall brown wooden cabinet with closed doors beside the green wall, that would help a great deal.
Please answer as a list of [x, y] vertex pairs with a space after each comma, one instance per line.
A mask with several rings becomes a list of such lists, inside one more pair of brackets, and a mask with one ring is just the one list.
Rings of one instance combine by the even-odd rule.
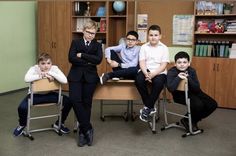
[[66, 0], [38, 1], [38, 52], [49, 53], [65, 75], [69, 71], [70, 8]]

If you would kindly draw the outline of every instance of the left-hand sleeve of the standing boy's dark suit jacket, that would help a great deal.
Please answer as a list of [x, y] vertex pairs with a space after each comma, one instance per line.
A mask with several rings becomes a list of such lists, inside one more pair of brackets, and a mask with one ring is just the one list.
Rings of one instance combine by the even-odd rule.
[[69, 50], [69, 56], [68, 56], [69, 62], [74, 65], [87, 64], [87, 61], [77, 57], [77, 53], [78, 53], [77, 44], [78, 44], [78, 42], [75, 40], [73, 40], [71, 43], [70, 50]]

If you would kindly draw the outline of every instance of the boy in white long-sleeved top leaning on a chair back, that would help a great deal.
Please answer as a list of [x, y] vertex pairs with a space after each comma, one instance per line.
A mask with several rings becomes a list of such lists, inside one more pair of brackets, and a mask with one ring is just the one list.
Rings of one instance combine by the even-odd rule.
[[[66, 76], [55, 65], [52, 65], [52, 60], [49, 54], [41, 53], [38, 57], [38, 64], [30, 67], [25, 75], [25, 82], [33, 82], [47, 78], [50, 81], [57, 80], [62, 84], [67, 83]], [[30, 93], [22, 100], [18, 107], [19, 125], [15, 128], [13, 135], [20, 136], [23, 133], [25, 126], [27, 125], [27, 113], [28, 113], [28, 98]], [[48, 92], [45, 94], [34, 94], [33, 104], [41, 103], [55, 103], [58, 100], [58, 93]], [[70, 130], [65, 127], [64, 122], [72, 108], [72, 103], [69, 98], [63, 95], [63, 109], [62, 109], [62, 125], [61, 132], [67, 134]], [[53, 124], [53, 127], [58, 129], [58, 120]]]

